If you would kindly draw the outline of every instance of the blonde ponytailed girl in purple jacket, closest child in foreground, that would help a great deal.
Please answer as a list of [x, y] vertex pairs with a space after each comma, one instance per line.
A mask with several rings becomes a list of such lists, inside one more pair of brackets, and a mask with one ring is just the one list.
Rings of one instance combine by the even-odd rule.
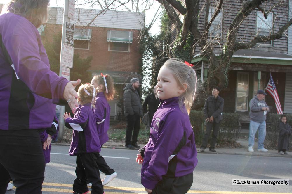
[[196, 73], [187, 62], [169, 59], [160, 68], [156, 91], [161, 103], [150, 138], [137, 155], [142, 185], [152, 194], [183, 194], [191, 188], [198, 163], [189, 120], [196, 93]]

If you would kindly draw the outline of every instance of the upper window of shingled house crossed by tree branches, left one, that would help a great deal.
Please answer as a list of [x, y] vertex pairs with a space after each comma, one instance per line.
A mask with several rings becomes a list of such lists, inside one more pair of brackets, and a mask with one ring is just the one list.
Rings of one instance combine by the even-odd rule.
[[[209, 16], [208, 16], [208, 22], [211, 20], [213, 14], [215, 13], [215, 7], [209, 8]], [[221, 38], [222, 33], [222, 9], [218, 13], [217, 17], [212, 22], [210, 29], [209, 29], [209, 37], [214, 38]]]

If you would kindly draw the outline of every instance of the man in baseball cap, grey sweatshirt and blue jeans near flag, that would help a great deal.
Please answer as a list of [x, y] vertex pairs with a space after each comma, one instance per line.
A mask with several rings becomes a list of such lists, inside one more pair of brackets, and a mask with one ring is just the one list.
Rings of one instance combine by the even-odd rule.
[[255, 134], [258, 131], [258, 151], [267, 152], [264, 148], [264, 140], [266, 136], [266, 119], [267, 113], [270, 111], [267, 103], [264, 101], [267, 94], [264, 90], [258, 90], [257, 95], [249, 102], [249, 138], [248, 152], [254, 152], [253, 145], [255, 143]]

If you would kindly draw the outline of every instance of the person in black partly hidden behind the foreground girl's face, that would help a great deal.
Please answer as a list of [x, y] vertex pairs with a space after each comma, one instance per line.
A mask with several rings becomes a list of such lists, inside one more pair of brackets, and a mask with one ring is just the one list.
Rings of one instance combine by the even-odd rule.
[[[157, 110], [159, 103], [160, 103], [160, 100], [157, 97], [156, 89], [154, 87], [153, 93], [149, 94], [145, 98], [145, 101], [143, 103], [143, 111], [144, 111], [144, 113], [148, 112], [148, 114], [149, 114], [149, 126], [151, 125], [154, 113]], [[148, 110], [147, 110], [147, 105], [148, 105]]]

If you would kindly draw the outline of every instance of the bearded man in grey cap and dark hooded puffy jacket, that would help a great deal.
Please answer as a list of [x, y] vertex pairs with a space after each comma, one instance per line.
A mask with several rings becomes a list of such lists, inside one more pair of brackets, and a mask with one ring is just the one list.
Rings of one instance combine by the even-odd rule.
[[[137, 144], [140, 130], [140, 118], [143, 116], [143, 109], [138, 92], [139, 79], [132, 78], [131, 84], [124, 88], [124, 114], [127, 118], [126, 145], [129, 149], [140, 148]], [[134, 129], [134, 131], [133, 131]], [[133, 131], [133, 136], [132, 136]], [[132, 139], [132, 141], [131, 141]]]

